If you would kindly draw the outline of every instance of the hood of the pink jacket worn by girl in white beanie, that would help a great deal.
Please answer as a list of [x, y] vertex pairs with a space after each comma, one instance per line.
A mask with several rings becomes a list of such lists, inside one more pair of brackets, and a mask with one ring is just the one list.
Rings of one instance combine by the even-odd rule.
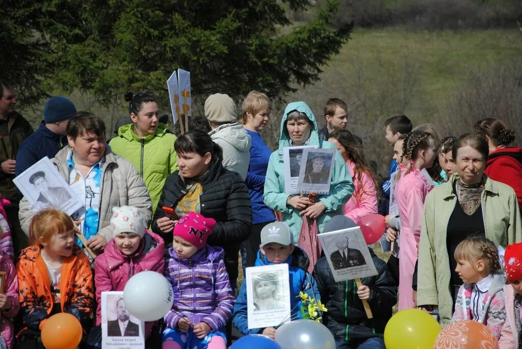
[[[121, 253], [116, 247], [114, 239], [109, 241], [103, 254], [107, 261], [110, 261], [109, 265], [111, 266], [111, 269], [118, 268], [122, 264], [127, 263], [130, 258], [133, 258], [140, 259], [139, 263], [144, 266], [144, 269], [151, 270], [158, 264], [158, 261], [163, 258], [164, 248], [165, 243], [163, 242], [163, 239], [158, 234], [147, 230], [145, 235], [143, 235], [143, 238], [141, 238], [140, 246], [134, 255], [126, 256]], [[147, 255], [149, 255], [150, 258], [143, 258]]]

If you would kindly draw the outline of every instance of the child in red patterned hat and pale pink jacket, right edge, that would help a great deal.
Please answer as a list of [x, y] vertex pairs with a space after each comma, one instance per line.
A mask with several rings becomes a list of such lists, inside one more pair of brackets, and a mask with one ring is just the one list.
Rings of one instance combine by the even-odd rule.
[[500, 332], [500, 349], [519, 349], [522, 336], [522, 243], [506, 247], [504, 263], [507, 281], [504, 286], [506, 321]]

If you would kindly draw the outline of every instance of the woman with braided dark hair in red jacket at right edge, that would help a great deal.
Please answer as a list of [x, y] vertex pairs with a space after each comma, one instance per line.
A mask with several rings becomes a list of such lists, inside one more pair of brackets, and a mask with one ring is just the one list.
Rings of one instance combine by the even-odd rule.
[[515, 140], [515, 131], [495, 118], [479, 120], [475, 131], [484, 136], [489, 144], [485, 175], [511, 186], [517, 194], [518, 207], [522, 208], [522, 148], [507, 146]]

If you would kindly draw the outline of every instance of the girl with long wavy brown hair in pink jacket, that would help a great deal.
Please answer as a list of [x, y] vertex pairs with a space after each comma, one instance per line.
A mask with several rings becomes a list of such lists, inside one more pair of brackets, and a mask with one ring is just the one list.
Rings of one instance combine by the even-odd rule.
[[335, 145], [346, 161], [353, 179], [355, 190], [344, 206], [345, 216], [358, 222], [362, 217], [377, 213], [377, 182], [373, 171], [366, 163], [362, 146], [348, 130], [337, 130], [330, 133], [328, 142]]

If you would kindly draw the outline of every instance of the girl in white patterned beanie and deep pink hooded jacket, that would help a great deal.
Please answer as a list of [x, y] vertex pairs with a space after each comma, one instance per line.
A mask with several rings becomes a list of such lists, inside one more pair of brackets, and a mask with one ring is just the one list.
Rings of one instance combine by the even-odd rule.
[[[94, 260], [96, 284], [96, 325], [101, 324], [101, 293], [123, 291], [127, 281], [140, 271], [163, 274], [165, 243], [159, 235], [146, 230], [139, 210], [132, 206], [113, 207], [111, 228], [113, 239], [103, 254]], [[145, 338], [154, 322], [145, 322]]]

